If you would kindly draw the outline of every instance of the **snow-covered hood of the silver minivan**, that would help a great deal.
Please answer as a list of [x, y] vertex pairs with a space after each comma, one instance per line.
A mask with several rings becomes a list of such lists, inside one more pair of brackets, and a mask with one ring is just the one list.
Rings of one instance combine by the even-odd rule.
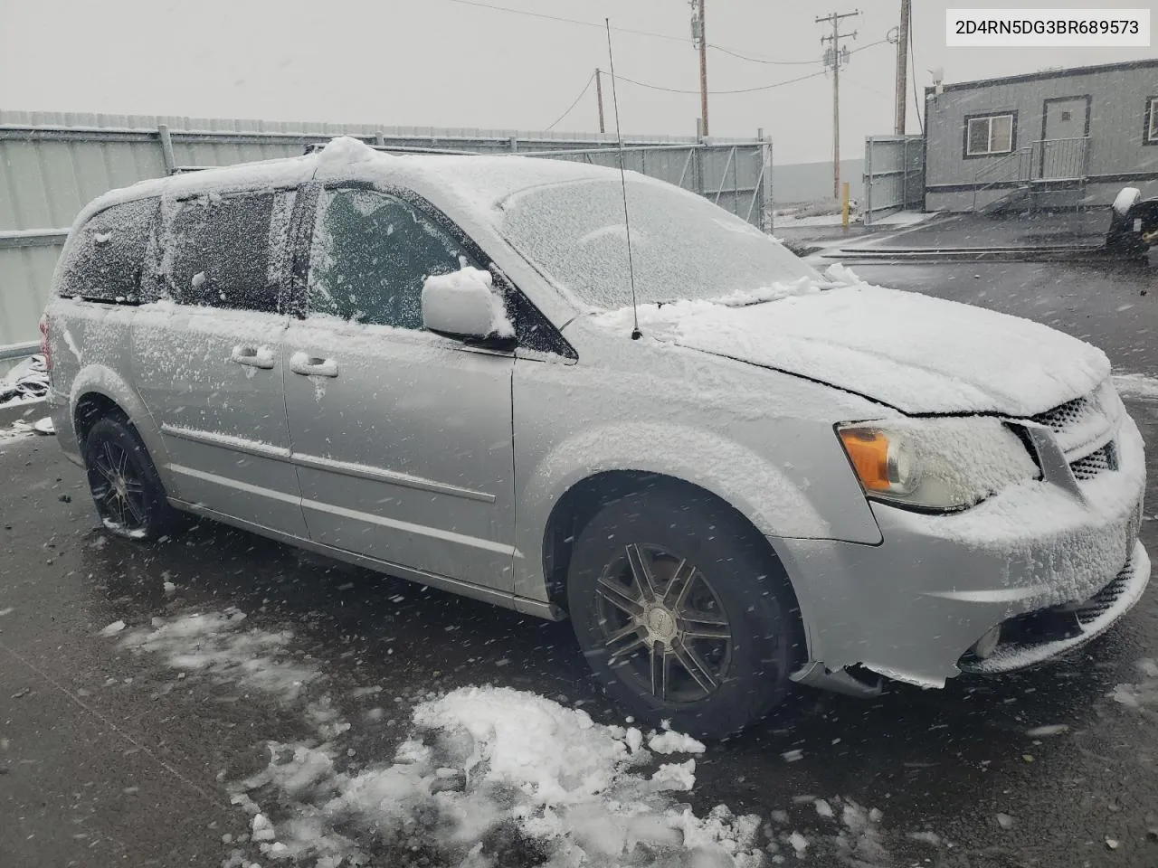
[[[600, 318], [618, 328], [621, 316]], [[1105, 353], [1048, 326], [866, 284], [750, 307], [648, 306], [639, 325], [645, 338], [818, 380], [906, 413], [1031, 417], [1109, 376]]]

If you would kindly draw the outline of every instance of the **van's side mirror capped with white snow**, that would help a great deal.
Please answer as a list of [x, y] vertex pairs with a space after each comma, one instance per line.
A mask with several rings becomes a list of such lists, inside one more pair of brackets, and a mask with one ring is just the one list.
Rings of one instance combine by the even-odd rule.
[[467, 340], [514, 337], [514, 326], [491, 273], [470, 266], [426, 278], [423, 325], [427, 331]]

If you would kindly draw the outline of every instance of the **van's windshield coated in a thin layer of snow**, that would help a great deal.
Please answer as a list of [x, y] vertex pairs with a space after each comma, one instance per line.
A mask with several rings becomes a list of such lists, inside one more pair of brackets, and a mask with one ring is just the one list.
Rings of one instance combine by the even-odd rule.
[[[779, 242], [706, 199], [628, 179], [631, 256], [640, 303], [719, 299], [820, 275]], [[587, 304], [631, 304], [618, 178], [537, 186], [503, 204], [503, 231], [522, 256]]]

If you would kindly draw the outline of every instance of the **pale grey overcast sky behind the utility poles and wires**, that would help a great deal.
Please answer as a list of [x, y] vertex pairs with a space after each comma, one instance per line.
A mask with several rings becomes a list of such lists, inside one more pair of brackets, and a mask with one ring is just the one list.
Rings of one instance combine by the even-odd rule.
[[[698, 88], [687, 0], [478, 0], [492, 6], [645, 30], [616, 32], [621, 76], [675, 90]], [[958, 0], [914, 0], [917, 84], [929, 68], [945, 81], [1112, 62], [1155, 49], [946, 49], [945, 9]], [[987, 3], [976, 2], [973, 6]], [[1095, 0], [1021, 0], [1017, 7], [1100, 7]], [[709, 52], [711, 90], [734, 90], [819, 73], [814, 19], [855, 2], [706, 0], [708, 42], [771, 60]], [[988, 6], [1003, 6], [990, 1]], [[1150, 8], [1158, 0], [1124, 0]], [[884, 39], [900, 0], [859, 0], [852, 49]], [[266, 120], [327, 120], [542, 130], [596, 66], [607, 68], [599, 27], [470, 6], [466, 0], [0, 0], [0, 108]], [[842, 75], [842, 149], [893, 132], [895, 47], [865, 47]], [[606, 82], [604, 82], [606, 83]], [[1158, 84], [1158, 82], [1156, 82]], [[1158, 87], [1156, 87], [1158, 91]], [[610, 93], [604, 89], [610, 110]], [[910, 96], [911, 101], [911, 96]], [[910, 102], [911, 105], [911, 102]], [[620, 84], [624, 132], [691, 134], [696, 93]], [[610, 117], [608, 118], [610, 123]], [[774, 137], [776, 162], [831, 155], [831, 81], [819, 75], [771, 90], [711, 98], [711, 133]], [[910, 110], [910, 131], [917, 120]], [[594, 87], [557, 127], [598, 131]]]

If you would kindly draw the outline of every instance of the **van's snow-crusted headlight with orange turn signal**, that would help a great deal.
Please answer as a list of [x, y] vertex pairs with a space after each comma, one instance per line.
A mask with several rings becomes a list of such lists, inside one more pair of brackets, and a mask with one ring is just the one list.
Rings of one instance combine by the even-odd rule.
[[1041, 470], [1020, 437], [984, 417], [837, 427], [865, 493], [918, 509], [965, 509]]

